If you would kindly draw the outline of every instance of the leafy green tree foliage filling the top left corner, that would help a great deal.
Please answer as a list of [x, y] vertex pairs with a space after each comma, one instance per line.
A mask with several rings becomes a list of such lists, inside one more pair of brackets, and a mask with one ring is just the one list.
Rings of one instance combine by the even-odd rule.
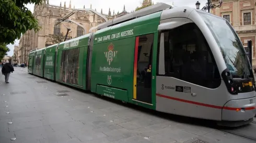
[[25, 7], [28, 3], [41, 4], [42, 0], [0, 0], [0, 58], [9, 51], [8, 44], [14, 44], [27, 30], [39, 31], [38, 21]]

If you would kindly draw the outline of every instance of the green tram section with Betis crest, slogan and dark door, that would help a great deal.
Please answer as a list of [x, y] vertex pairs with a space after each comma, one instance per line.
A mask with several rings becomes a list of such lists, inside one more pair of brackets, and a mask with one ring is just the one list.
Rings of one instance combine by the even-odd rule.
[[152, 57], [157, 51], [153, 50], [157, 42], [154, 34], [160, 14], [156, 12], [96, 32], [91, 64], [92, 92], [155, 109]]

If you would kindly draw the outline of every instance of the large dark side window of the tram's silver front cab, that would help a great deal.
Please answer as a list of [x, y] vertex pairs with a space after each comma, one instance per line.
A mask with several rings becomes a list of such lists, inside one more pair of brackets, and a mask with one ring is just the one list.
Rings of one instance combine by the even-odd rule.
[[208, 88], [220, 85], [211, 49], [194, 23], [164, 31], [164, 35], [165, 75], [159, 76], [171, 76]]

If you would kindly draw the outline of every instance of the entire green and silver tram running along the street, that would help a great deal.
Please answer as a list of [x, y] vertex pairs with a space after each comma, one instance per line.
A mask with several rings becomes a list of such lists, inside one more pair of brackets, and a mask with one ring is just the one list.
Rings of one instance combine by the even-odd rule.
[[252, 122], [252, 68], [225, 19], [158, 3], [93, 29], [31, 51], [28, 72], [160, 112]]

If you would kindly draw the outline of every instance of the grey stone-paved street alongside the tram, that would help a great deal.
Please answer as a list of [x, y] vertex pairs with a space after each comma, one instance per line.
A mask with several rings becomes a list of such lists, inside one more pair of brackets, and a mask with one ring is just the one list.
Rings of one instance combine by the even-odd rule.
[[50, 82], [27, 68], [15, 68], [9, 82], [0, 75], [1, 143], [254, 142]]

